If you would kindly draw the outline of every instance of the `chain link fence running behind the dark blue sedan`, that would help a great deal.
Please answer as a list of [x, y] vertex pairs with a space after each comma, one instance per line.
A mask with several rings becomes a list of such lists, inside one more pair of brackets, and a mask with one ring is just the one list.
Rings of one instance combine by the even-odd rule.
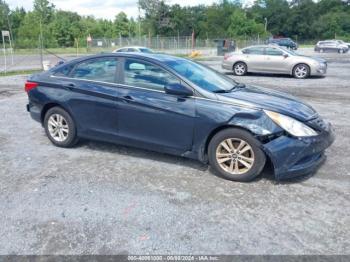
[[[76, 44], [76, 46], [69, 48], [42, 48], [40, 39], [38, 39], [38, 41], [33, 41], [32, 48], [2, 48], [0, 50], [0, 74], [13, 71], [42, 70], [44, 67], [53, 66], [62, 60], [70, 60], [88, 54], [112, 52], [117, 48], [125, 46], [145, 46], [156, 52], [183, 56], [189, 55], [192, 51], [196, 50], [202, 56], [216, 56], [217, 40], [193, 40], [192, 36], [96, 38], [92, 39], [91, 42]], [[234, 42], [236, 48], [241, 49], [249, 45], [263, 44], [265, 40], [255, 37], [234, 40]]]

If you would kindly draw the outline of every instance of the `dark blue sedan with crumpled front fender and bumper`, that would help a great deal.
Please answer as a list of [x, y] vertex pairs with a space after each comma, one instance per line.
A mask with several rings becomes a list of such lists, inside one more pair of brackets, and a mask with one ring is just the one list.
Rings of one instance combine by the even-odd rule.
[[249, 181], [267, 160], [276, 179], [313, 171], [334, 135], [295, 97], [246, 86], [199, 63], [160, 54], [76, 59], [31, 76], [27, 110], [48, 138], [96, 139], [210, 163]]

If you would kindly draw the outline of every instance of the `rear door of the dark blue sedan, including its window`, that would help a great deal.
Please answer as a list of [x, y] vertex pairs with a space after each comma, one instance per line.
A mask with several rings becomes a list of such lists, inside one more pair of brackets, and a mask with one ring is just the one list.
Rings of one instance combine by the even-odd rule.
[[116, 57], [85, 60], [61, 80], [72, 93], [69, 107], [79, 131], [85, 136], [105, 134], [107, 139], [117, 136], [118, 64]]

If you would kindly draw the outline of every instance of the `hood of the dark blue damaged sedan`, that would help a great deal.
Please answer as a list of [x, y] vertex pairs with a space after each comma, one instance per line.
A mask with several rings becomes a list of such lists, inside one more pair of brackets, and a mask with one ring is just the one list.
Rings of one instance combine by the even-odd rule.
[[298, 98], [257, 86], [238, 87], [232, 92], [217, 94], [217, 98], [227, 103], [271, 110], [303, 122], [317, 116], [311, 106]]

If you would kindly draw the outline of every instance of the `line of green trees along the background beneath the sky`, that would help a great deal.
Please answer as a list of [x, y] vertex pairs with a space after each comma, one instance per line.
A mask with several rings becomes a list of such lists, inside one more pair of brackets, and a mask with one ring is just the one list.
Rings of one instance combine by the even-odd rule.
[[285, 36], [295, 40], [350, 39], [350, 0], [239, 0], [211, 5], [169, 5], [164, 0], [139, 0], [141, 16], [124, 12], [114, 20], [58, 10], [48, 0], [34, 0], [33, 10], [11, 10], [0, 0], [0, 28], [10, 30], [17, 48], [72, 47], [86, 37], [189, 36], [247, 39]]

